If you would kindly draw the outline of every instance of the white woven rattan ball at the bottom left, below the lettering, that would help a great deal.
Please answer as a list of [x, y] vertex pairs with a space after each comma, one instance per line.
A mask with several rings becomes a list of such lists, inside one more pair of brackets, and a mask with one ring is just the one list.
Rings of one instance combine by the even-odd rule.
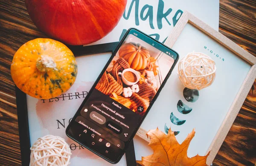
[[30, 150], [30, 166], [67, 166], [70, 163], [70, 147], [59, 136], [38, 138]]

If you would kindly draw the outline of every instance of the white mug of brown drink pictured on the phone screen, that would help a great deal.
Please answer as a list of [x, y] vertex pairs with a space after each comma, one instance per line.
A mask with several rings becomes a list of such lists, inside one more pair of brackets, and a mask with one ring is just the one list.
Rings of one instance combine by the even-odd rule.
[[134, 85], [140, 80], [140, 74], [132, 68], [125, 69], [118, 75], [121, 75], [122, 82], [128, 86]]

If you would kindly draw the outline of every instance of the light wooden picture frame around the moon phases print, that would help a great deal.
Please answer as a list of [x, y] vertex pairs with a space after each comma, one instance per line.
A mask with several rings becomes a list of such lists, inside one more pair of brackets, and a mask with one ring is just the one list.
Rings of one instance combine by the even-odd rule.
[[[217, 152], [220, 149], [221, 144], [223, 143], [225, 137], [227, 136], [230, 127], [232, 126], [234, 120], [236, 119], [236, 116], [239, 113], [239, 110], [242, 104], [244, 103], [244, 100], [247, 94], [249, 93], [249, 90], [252, 87], [254, 80], [256, 79], [256, 57], [245, 51], [243, 48], [241, 48], [239, 45], [225, 37], [223, 34], [219, 33], [218, 31], [215, 31], [209, 25], [202, 22], [197, 17], [190, 14], [188, 11], [183, 12], [182, 16], [180, 17], [179, 21], [175, 25], [174, 29], [172, 30], [171, 34], [166, 39], [166, 42], [164, 44], [172, 48], [175, 45], [177, 39], [179, 38], [181, 32], [183, 31], [185, 25], [187, 24], [191, 24], [192, 26], [200, 30], [201, 33], [208, 35], [216, 42], [218, 42], [220, 45], [224, 46], [229, 51], [233, 52], [233, 54], [239, 56], [241, 59], [246, 61], [251, 66], [238, 93], [236, 94], [235, 100], [233, 101], [231, 107], [229, 108], [224, 118], [224, 121], [222, 121], [222, 124], [219, 127], [218, 132], [216, 133], [214, 139], [212, 140], [208, 148], [207, 152], [211, 152], [207, 158], [207, 164], [210, 165], [214, 160], [215, 156], [217, 155]], [[147, 131], [143, 129], [143, 127], [140, 127], [140, 129], [137, 132], [137, 135], [143, 138], [145, 141], [150, 142], [150, 139], [147, 138], [146, 133]]]

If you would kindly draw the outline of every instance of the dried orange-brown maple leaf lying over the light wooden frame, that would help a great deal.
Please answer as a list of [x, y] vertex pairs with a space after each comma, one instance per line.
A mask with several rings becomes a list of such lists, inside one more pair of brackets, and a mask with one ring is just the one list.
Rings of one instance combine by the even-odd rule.
[[149, 130], [147, 136], [150, 138], [148, 145], [154, 153], [142, 157], [144, 166], [207, 166], [206, 159], [209, 153], [206, 156], [196, 155], [192, 158], [187, 156], [189, 143], [195, 136], [195, 129], [181, 144], [177, 142], [171, 128], [167, 135], [157, 128]]

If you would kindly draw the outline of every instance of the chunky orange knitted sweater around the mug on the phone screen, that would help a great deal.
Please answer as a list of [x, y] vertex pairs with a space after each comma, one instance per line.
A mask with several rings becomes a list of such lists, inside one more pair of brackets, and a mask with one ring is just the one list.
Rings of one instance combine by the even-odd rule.
[[[121, 96], [123, 83], [122, 79], [118, 76], [118, 73], [122, 72], [122, 70], [126, 68], [130, 68], [128, 62], [126, 62], [123, 58], [117, 59], [111, 72], [104, 72], [102, 78], [99, 80], [99, 83], [96, 85], [96, 89], [111, 97], [113, 97], [112, 93], [116, 93], [118, 95], [118, 99], [116, 101], [118, 101], [120, 104], [131, 102], [131, 105], [128, 108], [134, 110], [135, 113], [144, 115], [150, 101], [152, 98], [154, 98], [157, 91], [151, 85], [143, 82], [142, 84], [137, 83], [140, 88], [138, 93], [133, 93], [129, 98]], [[138, 107], [140, 106], [144, 108], [143, 112], [138, 111]]]

